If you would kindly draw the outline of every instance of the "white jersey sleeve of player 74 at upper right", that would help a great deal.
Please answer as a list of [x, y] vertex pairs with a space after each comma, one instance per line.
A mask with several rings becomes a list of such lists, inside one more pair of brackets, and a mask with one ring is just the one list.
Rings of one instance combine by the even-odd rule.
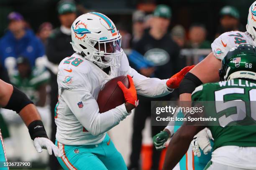
[[228, 51], [240, 44], [256, 45], [248, 32], [225, 32], [212, 42], [212, 52], [216, 58], [222, 60]]

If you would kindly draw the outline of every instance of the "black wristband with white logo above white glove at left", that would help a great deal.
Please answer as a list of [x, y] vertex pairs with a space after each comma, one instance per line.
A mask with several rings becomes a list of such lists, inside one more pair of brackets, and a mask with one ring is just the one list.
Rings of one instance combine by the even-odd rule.
[[35, 120], [28, 125], [28, 132], [32, 140], [35, 138], [48, 138], [41, 120]]

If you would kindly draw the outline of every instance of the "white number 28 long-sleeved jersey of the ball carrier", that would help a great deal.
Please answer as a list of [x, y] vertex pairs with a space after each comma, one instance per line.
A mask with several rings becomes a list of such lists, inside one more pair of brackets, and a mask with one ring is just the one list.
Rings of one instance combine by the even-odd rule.
[[78, 53], [60, 62], [57, 76], [59, 101], [55, 108], [56, 140], [64, 145], [95, 145], [130, 114], [124, 104], [99, 113], [97, 95], [105, 82], [114, 77], [131, 75], [140, 95], [160, 97], [169, 94], [167, 80], [140, 75], [129, 66], [124, 53], [120, 60], [120, 67], [110, 67], [110, 74]]

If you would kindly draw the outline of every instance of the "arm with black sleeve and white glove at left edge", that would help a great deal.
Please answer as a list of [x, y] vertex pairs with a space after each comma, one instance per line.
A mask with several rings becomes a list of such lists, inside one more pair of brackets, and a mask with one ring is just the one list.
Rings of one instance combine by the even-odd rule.
[[28, 127], [38, 153], [41, 153], [42, 148], [45, 148], [50, 155], [53, 150], [55, 156], [61, 156], [59, 149], [48, 139], [41, 117], [33, 102], [23, 92], [3, 80], [0, 80], [0, 106], [19, 113]]

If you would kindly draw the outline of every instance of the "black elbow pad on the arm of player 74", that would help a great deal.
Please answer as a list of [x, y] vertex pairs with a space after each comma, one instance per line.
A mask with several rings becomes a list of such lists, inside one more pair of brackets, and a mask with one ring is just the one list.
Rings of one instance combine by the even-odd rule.
[[183, 93], [192, 93], [197, 86], [200, 86], [202, 81], [192, 74], [188, 72], [179, 85], [179, 95]]

